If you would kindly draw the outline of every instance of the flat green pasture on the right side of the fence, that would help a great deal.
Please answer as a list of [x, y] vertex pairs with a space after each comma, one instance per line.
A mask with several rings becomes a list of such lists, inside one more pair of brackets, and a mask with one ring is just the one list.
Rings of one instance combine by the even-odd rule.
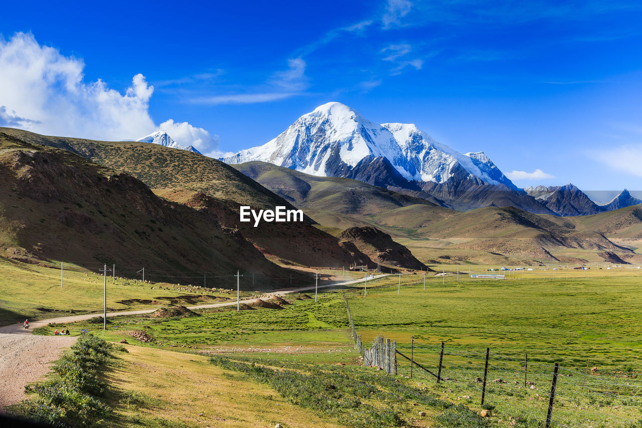
[[[438, 385], [417, 367], [413, 379], [440, 398], [473, 407], [480, 408], [481, 383], [475, 379], [483, 376], [489, 347], [485, 401], [508, 424], [542, 426], [555, 362], [560, 377], [554, 426], [642, 424], [642, 278], [625, 276], [624, 269], [602, 278], [528, 273], [525, 280], [504, 281], [451, 276], [443, 285], [433, 277], [425, 291], [420, 281], [401, 292], [374, 289], [366, 298], [359, 291], [350, 299], [352, 319], [366, 343], [377, 335], [396, 340], [397, 350], [413, 353], [435, 373], [444, 342], [442, 377], [449, 380]], [[532, 386], [524, 385], [526, 353]], [[399, 373], [409, 376], [410, 363], [397, 361]]]

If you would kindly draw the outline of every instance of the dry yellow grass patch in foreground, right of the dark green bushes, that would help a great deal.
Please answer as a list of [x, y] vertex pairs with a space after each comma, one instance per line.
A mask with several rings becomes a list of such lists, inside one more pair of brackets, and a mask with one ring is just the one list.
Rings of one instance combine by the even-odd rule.
[[268, 386], [209, 364], [203, 355], [126, 348], [129, 353], [119, 353], [121, 364], [108, 381], [111, 388], [147, 396], [148, 403], [121, 402], [108, 426], [341, 426], [290, 404]]

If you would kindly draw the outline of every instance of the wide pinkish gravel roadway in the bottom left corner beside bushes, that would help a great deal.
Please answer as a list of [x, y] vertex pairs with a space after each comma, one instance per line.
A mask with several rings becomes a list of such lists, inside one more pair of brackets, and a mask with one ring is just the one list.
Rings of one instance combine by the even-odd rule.
[[76, 337], [0, 334], [0, 411], [24, 399], [24, 386], [44, 376]]

